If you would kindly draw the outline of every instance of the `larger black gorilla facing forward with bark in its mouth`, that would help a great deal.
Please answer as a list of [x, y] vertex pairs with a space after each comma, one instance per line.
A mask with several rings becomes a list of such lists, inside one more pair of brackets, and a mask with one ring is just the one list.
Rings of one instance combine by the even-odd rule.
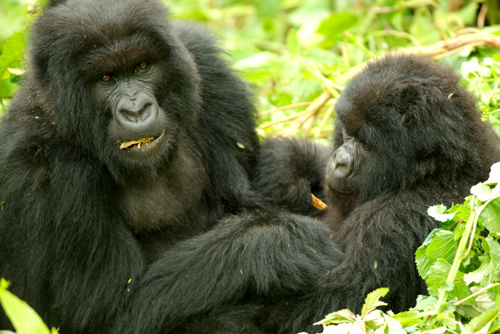
[[252, 296], [303, 294], [341, 257], [258, 209], [249, 93], [165, 15], [52, 1], [1, 120], [0, 276], [61, 333], [262, 333]]

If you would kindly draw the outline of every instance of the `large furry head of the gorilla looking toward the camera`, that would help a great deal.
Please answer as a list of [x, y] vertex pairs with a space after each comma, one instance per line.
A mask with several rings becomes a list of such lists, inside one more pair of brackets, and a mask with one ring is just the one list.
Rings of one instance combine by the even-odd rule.
[[79, 142], [118, 181], [154, 176], [196, 120], [196, 65], [156, 2], [82, 2], [49, 6], [35, 22], [31, 82], [61, 140]]

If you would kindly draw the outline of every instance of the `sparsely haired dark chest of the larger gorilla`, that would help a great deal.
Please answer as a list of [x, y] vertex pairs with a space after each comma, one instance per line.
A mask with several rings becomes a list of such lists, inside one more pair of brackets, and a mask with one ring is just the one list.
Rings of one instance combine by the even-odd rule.
[[161, 175], [129, 181], [117, 192], [124, 223], [139, 240], [163, 244], [204, 231], [208, 216], [206, 171], [194, 152], [181, 151]]

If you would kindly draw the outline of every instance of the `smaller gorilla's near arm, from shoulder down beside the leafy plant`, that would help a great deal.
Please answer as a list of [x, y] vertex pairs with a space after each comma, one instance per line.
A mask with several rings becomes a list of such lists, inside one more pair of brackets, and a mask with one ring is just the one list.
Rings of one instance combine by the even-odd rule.
[[[271, 333], [316, 333], [313, 323], [344, 308], [359, 313], [366, 295], [380, 287], [389, 288], [382, 301], [392, 311], [414, 304], [416, 296], [426, 290], [424, 282], [416, 280], [412, 259], [421, 240], [435, 227], [419, 210], [426, 205], [419, 198], [416, 193], [386, 194], [356, 207], [334, 234], [345, 253], [342, 263], [318, 280], [310, 293], [285, 300], [287, 304], [265, 304], [260, 318], [263, 328]], [[408, 287], [420, 287], [411, 301], [403, 300]]]

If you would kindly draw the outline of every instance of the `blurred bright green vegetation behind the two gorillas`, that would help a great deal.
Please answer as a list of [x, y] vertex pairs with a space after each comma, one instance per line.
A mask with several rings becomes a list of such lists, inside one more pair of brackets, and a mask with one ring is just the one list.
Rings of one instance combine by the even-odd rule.
[[[349, 70], [390, 50], [432, 45], [463, 32], [500, 35], [496, 0], [172, 0], [176, 19], [195, 19], [220, 38], [227, 57], [254, 87], [259, 133], [331, 134], [333, 104]], [[22, 43], [39, 1], [1, 0], [1, 105], [8, 105], [22, 76]], [[465, 30], [464, 30], [465, 29]], [[479, 29], [479, 30], [476, 30]], [[7, 38], [16, 31], [10, 40]], [[465, 34], [466, 35], [466, 34]], [[6, 44], [5, 44], [6, 43]], [[484, 118], [498, 129], [500, 51], [465, 43], [438, 54], [464, 77]], [[498, 39], [498, 46], [500, 39]], [[325, 90], [332, 98], [304, 110]]]

